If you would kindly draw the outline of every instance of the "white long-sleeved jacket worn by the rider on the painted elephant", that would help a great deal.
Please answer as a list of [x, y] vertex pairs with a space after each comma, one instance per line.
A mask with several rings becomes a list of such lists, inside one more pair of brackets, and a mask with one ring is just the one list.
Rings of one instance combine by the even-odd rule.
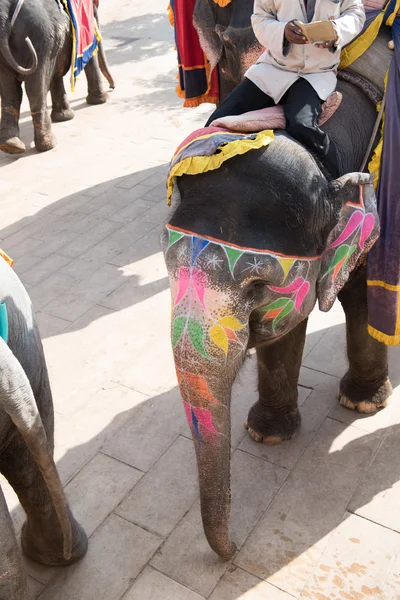
[[[255, 0], [251, 17], [254, 33], [265, 47], [257, 63], [245, 76], [278, 103], [293, 83], [303, 77], [322, 100], [336, 88], [340, 50], [362, 30], [365, 12], [362, 0], [316, 0], [313, 21], [334, 17], [339, 36], [334, 52], [312, 44], [289, 44], [284, 48], [286, 23], [307, 23], [303, 0]], [[287, 44], [287, 42], [286, 42]]]

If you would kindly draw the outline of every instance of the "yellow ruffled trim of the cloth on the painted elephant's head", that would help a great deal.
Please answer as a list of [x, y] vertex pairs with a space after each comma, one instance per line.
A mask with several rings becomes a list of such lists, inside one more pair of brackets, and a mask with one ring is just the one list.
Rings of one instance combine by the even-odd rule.
[[[227, 132], [228, 133], [228, 132]], [[236, 134], [237, 135], [237, 134]], [[203, 137], [203, 136], [201, 136]], [[201, 139], [198, 138], [198, 139]], [[204, 136], [207, 137], [207, 136]], [[226, 160], [238, 156], [239, 154], [246, 154], [249, 150], [257, 150], [263, 146], [268, 146], [274, 139], [274, 132], [270, 129], [260, 131], [255, 139], [240, 139], [229, 142], [224, 146], [218, 148], [218, 154], [212, 156], [188, 156], [182, 161], [174, 165], [168, 175], [168, 204], [171, 204], [172, 190], [174, 186], [175, 177], [180, 175], [199, 175], [199, 173], [206, 173], [206, 171], [213, 171], [218, 169]], [[195, 140], [193, 140], [195, 141]], [[182, 149], [180, 149], [181, 151]]]

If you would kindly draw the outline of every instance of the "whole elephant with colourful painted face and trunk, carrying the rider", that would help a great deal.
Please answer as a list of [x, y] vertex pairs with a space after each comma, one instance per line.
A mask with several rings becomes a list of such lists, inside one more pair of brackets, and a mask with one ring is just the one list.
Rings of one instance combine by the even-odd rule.
[[338, 398], [374, 412], [392, 388], [387, 349], [368, 334], [366, 254], [378, 235], [371, 176], [358, 173], [376, 109], [341, 80], [343, 101], [324, 128], [338, 148], [332, 181], [283, 131], [215, 171], [177, 178], [179, 204], [163, 233], [172, 292], [172, 345], [197, 453], [201, 511], [222, 558], [229, 538], [230, 399], [255, 348], [259, 400], [246, 428], [256, 442], [290, 439], [300, 425], [297, 383], [307, 317], [342, 303], [348, 370]]

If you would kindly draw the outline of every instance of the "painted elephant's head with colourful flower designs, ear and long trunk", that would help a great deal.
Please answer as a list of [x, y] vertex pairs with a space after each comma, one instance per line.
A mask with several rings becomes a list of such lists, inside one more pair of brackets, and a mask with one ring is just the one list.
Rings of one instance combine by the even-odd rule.
[[[271, 156], [277, 160], [269, 172], [254, 154], [228, 161], [220, 173], [180, 178], [181, 203], [163, 234], [172, 346], [196, 447], [204, 530], [223, 558], [234, 552], [230, 397], [246, 350], [284, 336], [317, 299], [329, 310], [378, 235], [370, 175], [328, 183], [311, 172], [317, 169], [308, 155], [308, 172], [300, 164], [296, 181], [279, 155]], [[264, 173], [269, 189], [255, 173]]]

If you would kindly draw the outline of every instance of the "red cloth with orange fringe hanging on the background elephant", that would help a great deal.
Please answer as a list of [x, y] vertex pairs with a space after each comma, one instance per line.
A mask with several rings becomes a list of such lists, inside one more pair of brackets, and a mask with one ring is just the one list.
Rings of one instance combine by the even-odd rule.
[[[225, 6], [231, 0], [214, 0]], [[210, 65], [201, 49], [196, 29], [193, 26], [193, 11], [196, 0], [170, 0], [168, 16], [175, 31], [178, 52], [179, 83], [176, 92], [184, 98], [183, 106], [192, 108], [203, 102], [218, 104], [218, 69], [210, 73]]]

